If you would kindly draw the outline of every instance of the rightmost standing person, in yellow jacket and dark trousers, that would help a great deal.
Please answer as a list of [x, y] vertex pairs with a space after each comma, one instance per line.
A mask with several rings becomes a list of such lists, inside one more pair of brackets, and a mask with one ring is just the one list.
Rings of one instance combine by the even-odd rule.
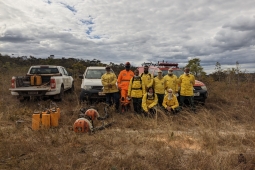
[[184, 105], [185, 99], [188, 100], [191, 109], [194, 113], [196, 113], [196, 107], [194, 104], [194, 92], [193, 92], [193, 86], [195, 84], [195, 77], [190, 74], [190, 69], [185, 68], [184, 74], [182, 74], [179, 78], [180, 83], [180, 106], [182, 107]]

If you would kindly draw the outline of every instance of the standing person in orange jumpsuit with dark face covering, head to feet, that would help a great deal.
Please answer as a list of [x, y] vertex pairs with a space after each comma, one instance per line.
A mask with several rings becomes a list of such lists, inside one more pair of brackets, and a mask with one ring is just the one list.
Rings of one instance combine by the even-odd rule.
[[122, 70], [118, 76], [118, 88], [120, 89], [121, 111], [130, 109], [130, 99], [128, 98], [128, 86], [130, 79], [134, 77], [134, 72], [130, 70], [130, 63], [126, 62], [125, 70]]

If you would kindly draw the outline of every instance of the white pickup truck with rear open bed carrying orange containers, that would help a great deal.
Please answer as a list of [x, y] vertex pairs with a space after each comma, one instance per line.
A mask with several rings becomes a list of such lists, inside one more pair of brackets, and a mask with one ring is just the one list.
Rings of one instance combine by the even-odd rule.
[[11, 94], [18, 99], [30, 99], [31, 96], [53, 96], [62, 100], [64, 91], [74, 91], [74, 80], [62, 66], [31, 66], [26, 76], [13, 76]]

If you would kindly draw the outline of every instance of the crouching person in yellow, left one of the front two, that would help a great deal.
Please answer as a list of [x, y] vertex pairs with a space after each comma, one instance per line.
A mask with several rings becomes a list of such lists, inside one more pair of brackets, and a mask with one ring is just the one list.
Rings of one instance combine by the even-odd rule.
[[149, 114], [155, 114], [155, 106], [158, 104], [158, 96], [155, 94], [153, 87], [149, 87], [147, 93], [143, 95], [142, 108], [145, 112], [145, 116]]

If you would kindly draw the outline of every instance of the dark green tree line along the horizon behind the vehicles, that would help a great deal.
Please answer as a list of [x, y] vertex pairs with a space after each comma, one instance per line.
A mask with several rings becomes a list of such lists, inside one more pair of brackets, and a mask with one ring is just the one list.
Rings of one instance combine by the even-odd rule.
[[[102, 63], [98, 59], [86, 60], [78, 58], [55, 58], [54, 55], [50, 55], [47, 58], [36, 58], [34, 56], [19, 56], [13, 57], [8, 55], [2, 55], [0, 53], [0, 68], [8, 69], [15, 67], [27, 67], [31, 65], [61, 65], [67, 68], [69, 72], [72, 72], [76, 77], [77, 75], [83, 74], [88, 66], [106, 66], [107, 64]], [[125, 68], [123, 63], [115, 64], [110, 62], [110, 66], [118, 74], [121, 70]], [[246, 73], [246, 71], [241, 71], [240, 64], [236, 61], [236, 67], [223, 69], [220, 62], [215, 63], [215, 71], [212, 74], [207, 75], [204, 72], [204, 68], [201, 66], [201, 60], [199, 58], [194, 58], [188, 61], [185, 67], [189, 67], [191, 73], [198, 80], [204, 80], [211, 78], [213, 81], [225, 81], [227, 83], [249, 81], [254, 82], [254, 73]], [[135, 70], [136, 67], [131, 66], [131, 70]], [[0, 70], [1, 71], [1, 70]]]

